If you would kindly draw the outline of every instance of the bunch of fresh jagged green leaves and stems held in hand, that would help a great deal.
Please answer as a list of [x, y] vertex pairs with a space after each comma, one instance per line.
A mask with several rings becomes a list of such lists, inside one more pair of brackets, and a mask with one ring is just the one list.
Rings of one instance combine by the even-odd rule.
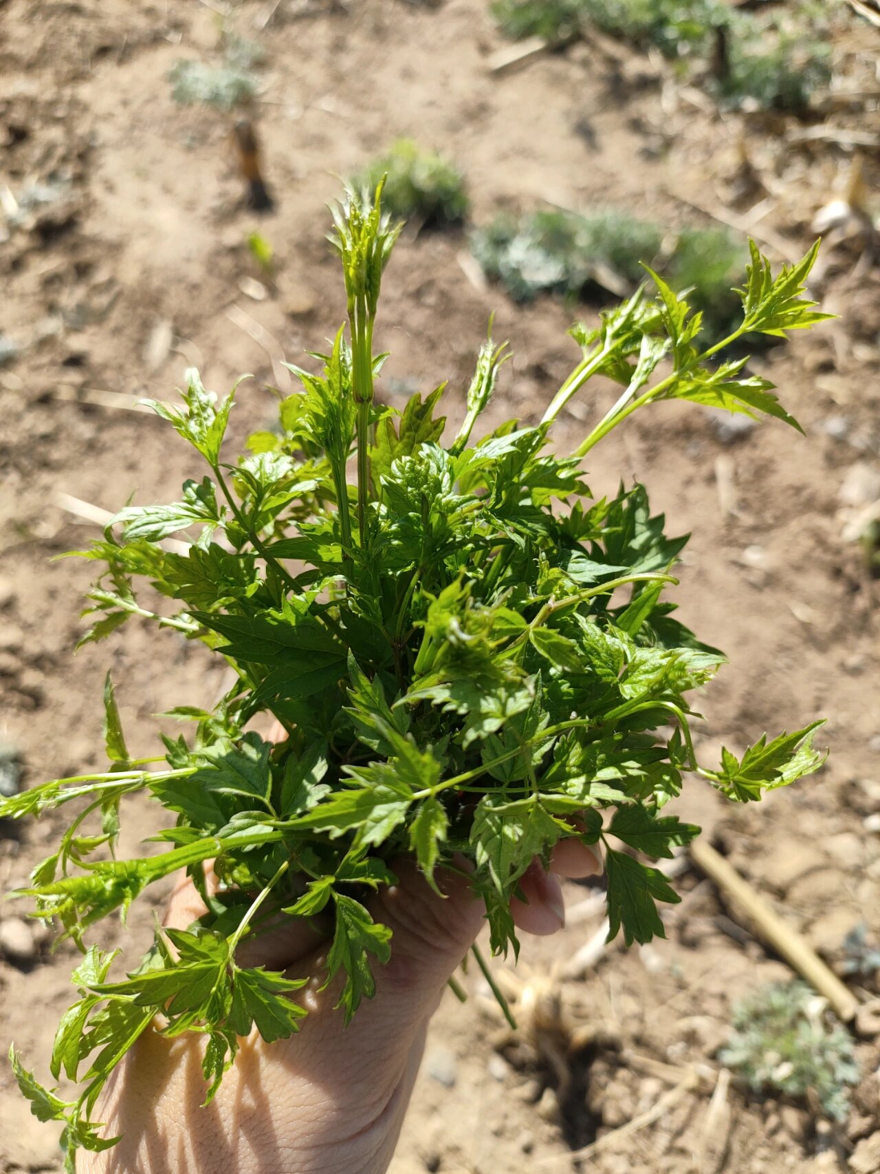
[[[480, 431], [508, 353], [492, 338], [456, 429], [442, 387], [417, 392], [401, 413], [384, 407], [374, 328], [398, 229], [380, 198], [381, 185], [374, 204], [348, 194], [336, 210], [348, 335], [340, 326], [313, 356], [317, 372], [292, 367], [302, 391], [280, 400], [279, 433], [232, 454], [235, 390], [218, 400], [189, 371], [182, 403], [154, 407], [201, 467], [180, 500], [124, 506], [81, 552], [99, 567], [83, 642], [137, 618], [207, 646], [233, 683], [215, 703], [172, 709], [191, 733], [143, 757], [108, 677], [108, 769], [0, 801], [0, 818], [54, 811], [62, 829], [18, 896], [83, 952], [49, 1062], [79, 1087], [62, 1097], [15, 1051], [12, 1061], [34, 1113], [63, 1122], [68, 1170], [77, 1148], [113, 1145], [96, 1102], [143, 1032], [202, 1034], [210, 1101], [255, 1026], [269, 1043], [297, 1031], [303, 984], [237, 952], [278, 917], [330, 923], [320, 977], [347, 1020], [394, 949], [368, 906], [395, 861], [413, 857], [436, 885], [463, 857], [492, 950], [515, 952], [509, 902], [521, 877], [575, 837], [604, 846], [609, 936], [649, 942], [664, 932], [658, 903], [678, 897], [643, 856], [668, 857], [699, 830], [663, 810], [685, 778], [746, 803], [823, 762], [813, 722], [698, 763], [689, 697], [724, 656], [666, 598], [686, 537], [666, 534], [644, 486], [595, 499], [583, 471], [603, 437], [658, 400], [797, 426], [772, 384], [745, 376], [743, 362], [715, 364], [724, 343], [706, 346], [699, 315], [654, 276], [654, 294], [639, 289], [596, 330], [575, 328], [581, 357], [537, 424]], [[815, 255], [773, 275], [752, 248], [731, 340], [825, 317], [805, 297]], [[620, 396], [574, 448], [554, 451], [555, 421], [594, 376]], [[168, 549], [171, 534], [190, 545]], [[258, 714], [286, 735], [262, 737], [250, 728]], [[164, 829], [150, 852], [120, 858], [137, 792]], [[123, 963], [95, 943], [104, 918], [175, 873], [190, 876], [204, 916], [157, 929], [143, 959]]]

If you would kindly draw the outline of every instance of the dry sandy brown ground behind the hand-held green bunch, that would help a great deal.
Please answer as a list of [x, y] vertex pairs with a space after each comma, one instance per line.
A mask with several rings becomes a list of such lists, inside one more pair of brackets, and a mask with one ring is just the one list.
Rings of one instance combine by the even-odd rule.
[[[171, 100], [174, 63], [216, 55], [214, 8], [0, 2], [0, 181], [13, 193], [33, 182], [65, 188], [0, 241], [0, 331], [21, 346], [0, 367], [0, 738], [20, 750], [29, 782], [97, 765], [108, 667], [129, 743], [144, 754], [155, 745], [153, 714], [218, 691], [222, 669], [172, 635], [157, 640], [131, 626], [72, 655], [89, 567], [50, 559], [96, 531], [59, 494], [110, 511], [131, 492], [138, 502], [172, 499], [192, 471], [188, 451], [126, 405], [127, 397], [168, 397], [190, 363], [219, 391], [253, 372], [236, 436], [265, 423], [263, 387], [284, 377], [277, 359], [320, 345], [344, 315], [323, 242], [334, 174], [406, 134], [461, 164], [475, 223], [500, 207], [614, 201], [678, 225], [708, 222], [693, 203], [743, 212], [745, 144], [769, 191], [756, 230], [781, 234], [794, 254], [851, 161], [833, 141], [794, 141], [804, 124], [792, 120], [720, 115], [698, 79], [689, 88], [662, 62], [604, 41], [493, 74], [488, 63], [505, 42], [480, 0], [242, 2], [230, 6], [229, 22], [266, 53], [257, 113], [278, 203], [258, 223], [243, 204], [229, 119]], [[868, 96], [821, 112], [840, 131], [880, 129], [865, 82], [873, 76], [876, 89], [879, 41], [868, 22], [841, 15], [841, 85]], [[875, 153], [866, 177], [880, 180]], [[253, 229], [277, 258], [277, 289], [258, 302], [239, 288], [259, 276], [246, 248]], [[380, 326], [380, 345], [392, 351], [384, 393], [394, 402], [401, 389], [448, 379], [454, 416], [495, 310], [495, 333], [512, 339], [515, 359], [493, 411], [530, 419], [576, 359], [566, 337], [573, 311], [550, 299], [515, 306], [479, 288], [460, 263], [466, 249], [458, 232], [401, 241]], [[858, 548], [842, 540], [840, 517], [847, 495], [855, 505], [880, 497], [880, 270], [858, 239], [832, 239], [817, 288], [841, 318], [757, 365], [779, 384], [805, 437], [767, 426], [731, 443], [708, 413], [663, 405], [595, 453], [590, 484], [600, 495], [620, 477], [638, 477], [671, 528], [693, 533], [677, 593], [683, 616], [731, 661], [702, 707], [708, 749], [742, 748], [765, 726], [827, 717], [832, 755], [815, 780], [759, 810], [700, 794], [688, 810], [796, 929], [839, 960], [854, 925], [880, 936], [871, 821], [880, 811], [878, 592]], [[578, 312], [590, 317], [595, 308]], [[576, 441], [608, 397], [598, 387], [575, 404], [563, 439]], [[133, 811], [123, 846], [135, 848], [150, 818]], [[4, 889], [25, 880], [54, 831], [50, 819], [0, 830]], [[871, 1031], [859, 1041], [865, 1075], [845, 1126], [731, 1087], [724, 1124], [710, 1119], [706, 1133], [731, 1004], [788, 971], [696, 871], [685, 869], [677, 884], [684, 900], [666, 913], [668, 942], [612, 946], [582, 978], [564, 974], [600, 926], [593, 890], [569, 885], [567, 930], [523, 949], [520, 981], [549, 984], [566, 1030], [585, 1041], [562, 1107], [534, 1050], [500, 1038], [474, 976], [466, 1006], [448, 997], [393, 1174], [880, 1169], [880, 1156], [871, 1158], [872, 1146], [880, 1149], [880, 1040]], [[149, 915], [142, 910], [124, 931], [108, 927], [107, 940], [134, 954]], [[0, 906], [0, 918], [14, 916]], [[0, 958], [0, 1043], [14, 1039], [43, 1075], [72, 965], [68, 946], [50, 953], [43, 940], [31, 960]], [[876, 996], [874, 983], [864, 980], [860, 998]], [[641, 1127], [622, 1129], [632, 1121]], [[596, 1138], [597, 1152], [573, 1158]], [[52, 1129], [29, 1116], [0, 1068], [0, 1169], [59, 1165]]]

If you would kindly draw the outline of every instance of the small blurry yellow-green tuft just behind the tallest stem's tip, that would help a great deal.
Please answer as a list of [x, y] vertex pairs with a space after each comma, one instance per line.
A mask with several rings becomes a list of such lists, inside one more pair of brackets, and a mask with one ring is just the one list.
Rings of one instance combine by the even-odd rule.
[[467, 216], [471, 201], [461, 171], [412, 139], [399, 139], [387, 155], [356, 175], [351, 185], [357, 191], [373, 191], [383, 176], [383, 200], [392, 216], [425, 227], [459, 224]]

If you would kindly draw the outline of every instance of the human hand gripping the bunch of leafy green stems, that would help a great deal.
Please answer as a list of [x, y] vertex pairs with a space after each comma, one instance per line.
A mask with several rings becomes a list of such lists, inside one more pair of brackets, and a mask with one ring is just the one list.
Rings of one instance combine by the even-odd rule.
[[[394, 1153], [444, 987], [479, 933], [483, 906], [466, 877], [438, 873], [445, 898], [409, 861], [397, 862], [398, 884], [370, 902], [393, 932], [392, 956], [375, 967], [375, 997], [352, 1023], [333, 1006], [336, 993], [311, 980], [297, 992], [309, 1010], [302, 1031], [265, 1044], [253, 1032], [207, 1108], [202, 1043], [148, 1030], [120, 1066], [101, 1106], [115, 1148], [80, 1158], [86, 1174], [381, 1174]], [[514, 899], [520, 930], [547, 935], [564, 923], [559, 877], [600, 871], [576, 839], [562, 841], [550, 871], [533, 862]], [[192, 884], [174, 893], [165, 924], [185, 929], [204, 912]], [[249, 966], [285, 970], [290, 978], [320, 972], [327, 940], [302, 919], [239, 947]]]

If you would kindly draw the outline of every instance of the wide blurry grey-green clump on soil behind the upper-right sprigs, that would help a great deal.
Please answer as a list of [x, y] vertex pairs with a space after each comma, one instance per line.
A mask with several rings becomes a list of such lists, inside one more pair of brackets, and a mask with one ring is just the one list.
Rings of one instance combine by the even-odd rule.
[[[471, 248], [487, 277], [517, 302], [542, 292], [604, 299], [609, 288], [637, 285], [670, 236], [659, 224], [614, 209], [588, 216], [547, 210], [499, 216], [472, 234]], [[731, 285], [742, 272], [745, 243], [724, 229], [683, 229], [672, 239], [666, 277], [691, 290], [708, 332], [726, 337], [740, 309]]]

